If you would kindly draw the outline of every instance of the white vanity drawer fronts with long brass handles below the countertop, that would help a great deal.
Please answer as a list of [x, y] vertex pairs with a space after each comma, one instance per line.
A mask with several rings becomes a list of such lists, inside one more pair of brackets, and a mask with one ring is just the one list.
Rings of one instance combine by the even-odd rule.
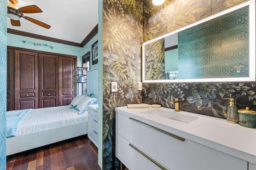
[[116, 157], [130, 170], [248, 168], [247, 162], [240, 158], [175, 135], [152, 127], [134, 116], [116, 113]]

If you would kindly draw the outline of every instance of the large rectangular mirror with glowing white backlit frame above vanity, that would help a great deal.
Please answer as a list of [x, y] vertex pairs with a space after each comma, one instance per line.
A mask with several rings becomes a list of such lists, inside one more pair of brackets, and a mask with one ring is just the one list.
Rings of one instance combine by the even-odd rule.
[[142, 78], [143, 82], [255, 81], [253, 1], [144, 43]]

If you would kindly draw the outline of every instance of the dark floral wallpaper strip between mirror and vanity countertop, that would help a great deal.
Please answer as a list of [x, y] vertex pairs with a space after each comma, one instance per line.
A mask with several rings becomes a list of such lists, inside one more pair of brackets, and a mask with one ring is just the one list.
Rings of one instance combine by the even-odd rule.
[[255, 82], [144, 83], [143, 102], [174, 109], [169, 102], [180, 98], [180, 110], [226, 119], [228, 100], [238, 109], [256, 110]]

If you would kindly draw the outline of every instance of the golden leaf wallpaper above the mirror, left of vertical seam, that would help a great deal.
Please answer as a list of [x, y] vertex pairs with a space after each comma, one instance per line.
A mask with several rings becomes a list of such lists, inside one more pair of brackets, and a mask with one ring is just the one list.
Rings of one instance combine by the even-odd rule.
[[143, 41], [154, 39], [211, 15], [211, 0], [143, 1]]

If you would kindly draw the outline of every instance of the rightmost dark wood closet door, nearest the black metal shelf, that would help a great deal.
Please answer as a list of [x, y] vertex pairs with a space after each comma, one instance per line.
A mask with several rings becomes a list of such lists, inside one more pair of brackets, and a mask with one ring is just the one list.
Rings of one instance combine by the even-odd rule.
[[60, 106], [65, 106], [70, 104], [73, 99], [74, 67], [75, 67], [74, 58], [59, 56]]

